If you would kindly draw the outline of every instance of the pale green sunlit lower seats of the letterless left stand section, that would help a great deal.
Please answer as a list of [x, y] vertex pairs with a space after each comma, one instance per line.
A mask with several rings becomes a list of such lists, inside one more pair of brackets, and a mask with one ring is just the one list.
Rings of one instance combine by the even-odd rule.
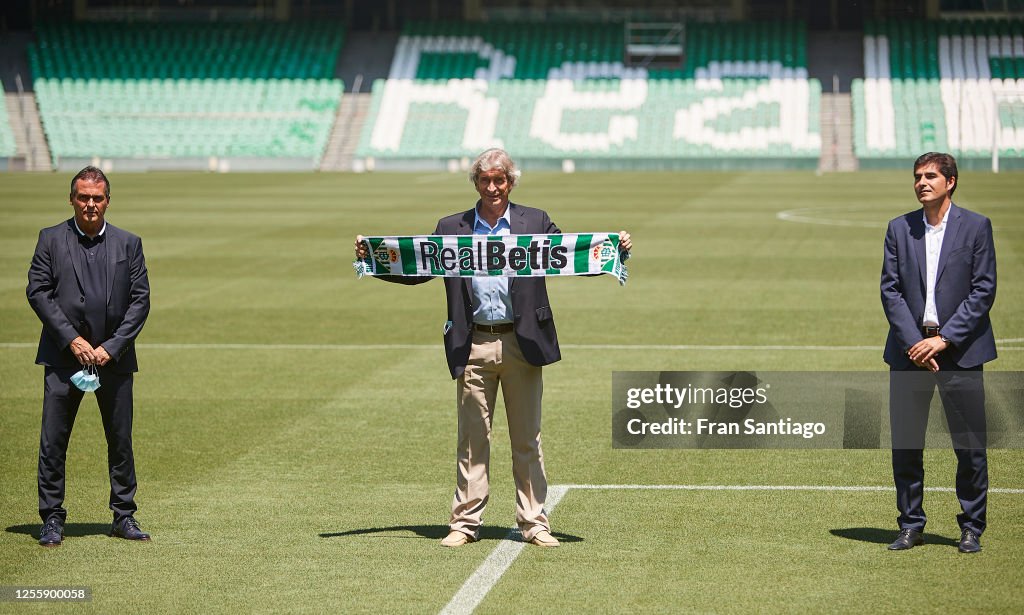
[[[318, 160], [342, 84], [42, 79], [36, 82], [36, 94], [55, 157], [238, 155]], [[106, 145], [111, 134], [122, 139]]]

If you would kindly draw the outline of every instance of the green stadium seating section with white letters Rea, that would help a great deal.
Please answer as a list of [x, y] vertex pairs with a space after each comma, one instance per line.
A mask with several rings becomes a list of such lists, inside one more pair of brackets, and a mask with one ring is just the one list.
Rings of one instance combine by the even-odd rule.
[[816, 162], [821, 90], [796, 23], [691, 25], [677, 68], [623, 63], [624, 27], [414, 24], [357, 156]]

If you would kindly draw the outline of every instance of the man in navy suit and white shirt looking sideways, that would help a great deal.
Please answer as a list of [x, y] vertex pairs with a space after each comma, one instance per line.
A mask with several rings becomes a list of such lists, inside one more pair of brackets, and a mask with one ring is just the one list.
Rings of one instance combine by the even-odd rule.
[[889, 413], [900, 532], [894, 551], [924, 543], [924, 442], [936, 386], [956, 453], [959, 551], [981, 551], [988, 493], [982, 365], [995, 358], [989, 310], [995, 248], [988, 218], [952, 203], [956, 161], [930, 152], [913, 165], [922, 209], [889, 223], [882, 305], [889, 319]]

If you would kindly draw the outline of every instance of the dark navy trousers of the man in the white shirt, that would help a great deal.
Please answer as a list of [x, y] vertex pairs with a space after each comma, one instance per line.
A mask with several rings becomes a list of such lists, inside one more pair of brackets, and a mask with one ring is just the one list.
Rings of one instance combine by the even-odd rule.
[[900, 529], [925, 529], [923, 449], [928, 410], [938, 388], [956, 455], [956, 498], [962, 509], [956, 522], [961, 529], [980, 536], [985, 531], [988, 497], [984, 372], [980, 365], [964, 369], [941, 355], [938, 362], [939, 371], [935, 374], [918, 367], [890, 371], [897, 522]]

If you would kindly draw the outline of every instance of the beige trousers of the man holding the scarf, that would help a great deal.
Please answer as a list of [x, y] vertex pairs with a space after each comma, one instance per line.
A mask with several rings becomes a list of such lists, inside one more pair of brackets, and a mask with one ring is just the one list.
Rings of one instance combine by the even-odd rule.
[[494, 335], [473, 331], [465, 372], [457, 383], [459, 445], [453, 530], [478, 537], [489, 494], [490, 428], [498, 387], [505, 400], [516, 489], [516, 524], [523, 538], [549, 530], [544, 501], [548, 479], [541, 451], [541, 367], [522, 356], [514, 332]]

